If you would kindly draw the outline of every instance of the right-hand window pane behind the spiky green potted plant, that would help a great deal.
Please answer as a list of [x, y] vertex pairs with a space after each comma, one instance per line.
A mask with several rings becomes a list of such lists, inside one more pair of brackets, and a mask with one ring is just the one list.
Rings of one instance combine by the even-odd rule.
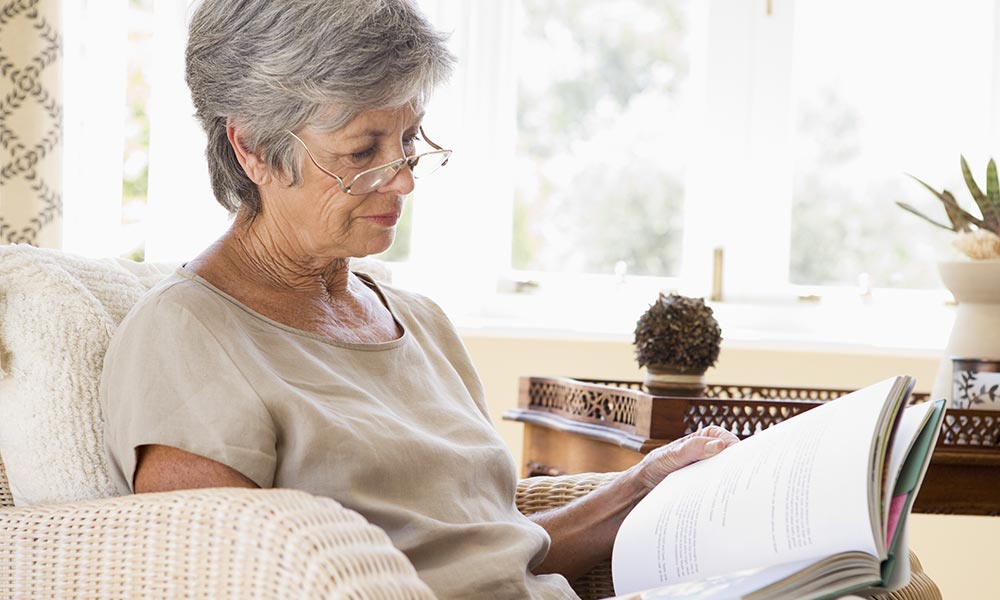
[[995, 23], [993, 0], [795, 4], [793, 283], [939, 285], [949, 234], [894, 201], [944, 218], [912, 173], [972, 205], [959, 155], [985, 174], [996, 148]]

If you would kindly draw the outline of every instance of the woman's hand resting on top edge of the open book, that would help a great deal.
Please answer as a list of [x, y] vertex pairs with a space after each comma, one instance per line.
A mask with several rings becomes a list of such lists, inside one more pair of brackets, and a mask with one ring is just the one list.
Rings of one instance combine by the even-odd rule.
[[694, 433], [653, 450], [642, 459], [641, 463], [626, 473], [627, 476], [636, 479], [639, 493], [645, 496], [677, 469], [715, 456], [738, 441], [740, 441], [738, 437], [717, 425], [702, 427]]

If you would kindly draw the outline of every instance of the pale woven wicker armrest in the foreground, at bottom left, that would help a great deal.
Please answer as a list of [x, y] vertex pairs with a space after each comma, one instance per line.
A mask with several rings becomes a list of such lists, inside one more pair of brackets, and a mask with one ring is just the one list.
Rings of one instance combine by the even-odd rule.
[[434, 598], [327, 498], [218, 488], [0, 509], [0, 597]]

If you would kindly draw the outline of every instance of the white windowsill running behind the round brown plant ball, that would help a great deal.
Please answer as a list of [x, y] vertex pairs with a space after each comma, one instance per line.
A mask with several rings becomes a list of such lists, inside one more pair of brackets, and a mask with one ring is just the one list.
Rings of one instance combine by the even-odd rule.
[[[463, 335], [533, 339], [627, 341], [648, 302], [627, 297], [546, 298], [496, 294], [476, 313], [446, 306]], [[948, 340], [954, 306], [926, 300], [864, 302], [710, 302], [724, 345], [737, 348], [939, 355]]]

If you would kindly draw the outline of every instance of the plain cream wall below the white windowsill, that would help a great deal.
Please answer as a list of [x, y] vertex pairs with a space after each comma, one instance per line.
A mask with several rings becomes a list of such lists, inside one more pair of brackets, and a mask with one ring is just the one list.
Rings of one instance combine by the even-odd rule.
[[[517, 405], [519, 377], [641, 379], [626, 340], [501, 337], [475, 331], [463, 332], [463, 339], [482, 377], [493, 420], [518, 464], [522, 426], [503, 421], [502, 415]], [[929, 391], [936, 368], [937, 358], [930, 353], [744, 343], [725, 347], [708, 379], [710, 383], [855, 388], [909, 374], [917, 378], [917, 391]], [[945, 599], [1000, 597], [996, 546], [1000, 518], [914, 515], [910, 523], [911, 547]]]

